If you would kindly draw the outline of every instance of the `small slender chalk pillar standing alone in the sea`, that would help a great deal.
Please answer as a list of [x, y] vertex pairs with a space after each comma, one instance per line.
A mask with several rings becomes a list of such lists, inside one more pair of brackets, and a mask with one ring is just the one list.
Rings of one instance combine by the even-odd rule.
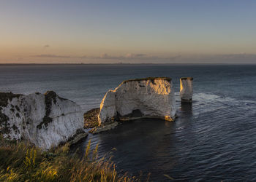
[[180, 79], [181, 102], [192, 102], [193, 78], [184, 77]]

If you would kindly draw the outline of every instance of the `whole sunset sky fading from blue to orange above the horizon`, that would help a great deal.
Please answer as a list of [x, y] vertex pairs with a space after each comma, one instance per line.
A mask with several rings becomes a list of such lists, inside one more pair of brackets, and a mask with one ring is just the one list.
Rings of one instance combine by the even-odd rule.
[[256, 63], [255, 0], [1, 0], [0, 63]]

